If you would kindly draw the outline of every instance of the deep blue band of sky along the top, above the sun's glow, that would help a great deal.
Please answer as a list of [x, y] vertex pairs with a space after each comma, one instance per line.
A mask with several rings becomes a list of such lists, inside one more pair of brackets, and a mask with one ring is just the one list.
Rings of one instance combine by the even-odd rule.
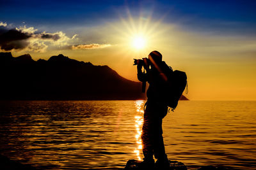
[[[0, 1], [2, 22], [76, 27], [113, 22], [126, 15], [148, 15], [195, 31], [255, 34], [256, 1]], [[245, 32], [244, 32], [245, 31]]]

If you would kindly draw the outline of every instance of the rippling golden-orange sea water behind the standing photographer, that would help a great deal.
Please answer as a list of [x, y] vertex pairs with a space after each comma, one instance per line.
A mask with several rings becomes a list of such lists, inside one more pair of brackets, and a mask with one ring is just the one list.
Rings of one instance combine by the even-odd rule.
[[[118, 169], [142, 159], [144, 101], [0, 101], [0, 153], [44, 169]], [[256, 169], [256, 101], [179, 101], [166, 154], [196, 169]], [[142, 120], [142, 122], [141, 122]]]

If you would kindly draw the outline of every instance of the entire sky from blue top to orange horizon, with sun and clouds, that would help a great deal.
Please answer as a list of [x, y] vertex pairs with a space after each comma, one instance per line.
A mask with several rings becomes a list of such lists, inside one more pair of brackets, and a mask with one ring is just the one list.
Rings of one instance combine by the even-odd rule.
[[157, 50], [191, 100], [256, 100], [256, 1], [0, 0], [0, 51], [62, 53], [133, 81]]

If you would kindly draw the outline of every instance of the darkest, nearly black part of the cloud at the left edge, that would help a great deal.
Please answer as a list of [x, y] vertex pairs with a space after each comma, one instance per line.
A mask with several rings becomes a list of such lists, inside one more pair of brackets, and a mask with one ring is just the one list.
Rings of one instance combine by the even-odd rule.
[[17, 31], [15, 29], [0, 29], [0, 46], [2, 50], [23, 49], [29, 45], [26, 39], [31, 38], [31, 35]]

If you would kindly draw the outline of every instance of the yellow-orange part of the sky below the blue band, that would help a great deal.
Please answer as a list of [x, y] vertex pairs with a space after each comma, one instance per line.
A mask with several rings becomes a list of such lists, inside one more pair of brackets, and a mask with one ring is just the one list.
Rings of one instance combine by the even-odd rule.
[[[108, 39], [108, 43], [102, 48], [65, 49], [56, 45], [43, 52], [13, 50], [12, 53], [13, 56], [30, 53], [35, 60], [62, 53], [94, 65], [108, 65], [121, 76], [138, 81], [133, 59], [158, 50], [169, 66], [187, 73], [189, 99], [256, 100], [256, 40], [253, 38], [192, 32], [179, 25], [132, 17], [84, 28], [81, 34], [97, 35], [102, 42]], [[145, 38], [144, 48], [134, 47], [132, 38], [136, 36]], [[70, 36], [67, 41], [72, 39]], [[65, 41], [63, 38], [61, 43]]]

